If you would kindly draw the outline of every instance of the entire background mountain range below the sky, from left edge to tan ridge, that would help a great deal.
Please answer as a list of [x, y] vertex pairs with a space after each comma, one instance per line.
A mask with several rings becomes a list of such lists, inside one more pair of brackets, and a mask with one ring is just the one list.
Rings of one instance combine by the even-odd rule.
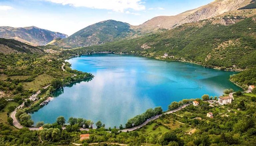
[[[138, 26], [106, 20], [87, 26], [69, 37], [34, 26], [24, 28], [0, 27], [0, 37], [15, 39], [33, 46], [50, 44], [60, 47], [87, 47], [173, 29], [186, 23], [216, 18], [238, 9], [246, 9], [246, 7], [254, 8], [255, 0], [214, 0], [207, 5], [175, 16], [154, 17]], [[222, 22], [222, 24], [225, 23], [232, 22]]]

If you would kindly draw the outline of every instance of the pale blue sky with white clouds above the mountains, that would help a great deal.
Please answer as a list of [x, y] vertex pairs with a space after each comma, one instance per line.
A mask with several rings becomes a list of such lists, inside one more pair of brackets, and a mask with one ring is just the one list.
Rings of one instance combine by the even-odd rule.
[[139, 25], [213, 0], [0, 0], [0, 26], [36, 26], [67, 35], [100, 21]]

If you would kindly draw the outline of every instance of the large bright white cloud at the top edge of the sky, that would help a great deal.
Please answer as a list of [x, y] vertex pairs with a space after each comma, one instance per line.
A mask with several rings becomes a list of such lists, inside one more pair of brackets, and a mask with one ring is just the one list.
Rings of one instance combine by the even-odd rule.
[[142, 0], [45, 0], [62, 5], [74, 7], [87, 7], [93, 9], [107, 9], [124, 12], [127, 9], [136, 11], [145, 10]]

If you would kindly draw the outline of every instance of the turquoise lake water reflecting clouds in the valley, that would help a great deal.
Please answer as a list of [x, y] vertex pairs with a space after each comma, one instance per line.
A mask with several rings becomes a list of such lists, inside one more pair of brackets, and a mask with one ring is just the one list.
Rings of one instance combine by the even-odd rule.
[[118, 127], [148, 108], [167, 110], [172, 101], [240, 89], [229, 81], [235, 72], [184, 62], [115, 54], [81, 56], [68, 62], [72, 69], [95, 77], [56, 90], [53, 101], [31, 114], [35, 123], [53, 123], [61, 115], [66, 121], [81, 117], [94, 123], [100, 120], [106, 128]]

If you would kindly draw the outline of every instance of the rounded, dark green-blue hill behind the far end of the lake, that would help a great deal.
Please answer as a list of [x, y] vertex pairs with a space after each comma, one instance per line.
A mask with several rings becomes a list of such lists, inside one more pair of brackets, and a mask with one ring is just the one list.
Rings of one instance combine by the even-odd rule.
[[62, 47], [84, 47], [123, 39], [133, 34], [134, 30], [128, 23], [106, 20], [85, 27], [68, 38], [53, 41], [51, 44]]

